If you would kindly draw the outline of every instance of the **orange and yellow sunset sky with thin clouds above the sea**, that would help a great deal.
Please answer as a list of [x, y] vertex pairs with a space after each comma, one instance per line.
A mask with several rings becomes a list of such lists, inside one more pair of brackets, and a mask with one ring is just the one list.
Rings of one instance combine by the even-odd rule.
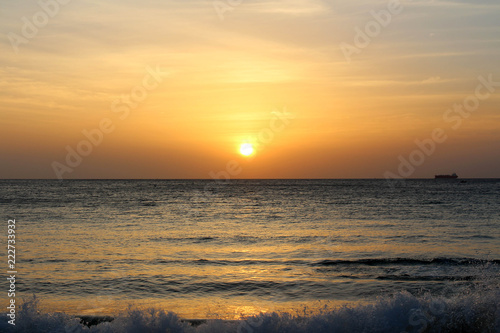
[[498, 178], [499, 60], [497, 0], [0, 0], [0, 178]]

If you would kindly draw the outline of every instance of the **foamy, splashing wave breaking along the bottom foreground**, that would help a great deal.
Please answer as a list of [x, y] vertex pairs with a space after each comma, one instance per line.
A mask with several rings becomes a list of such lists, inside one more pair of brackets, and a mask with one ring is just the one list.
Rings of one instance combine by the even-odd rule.
[[3, 315], [2, 332], [500, 332], [500, 291], [475, 290], [453, 298], [400, 292], [368, 305], [300, 312], [261, 313], [240, 320], [183, 320], [162, 309], [129, 309], [114, 317], [75, 317], [39, 309], [35, 297], [16, 314], [15, 326]]

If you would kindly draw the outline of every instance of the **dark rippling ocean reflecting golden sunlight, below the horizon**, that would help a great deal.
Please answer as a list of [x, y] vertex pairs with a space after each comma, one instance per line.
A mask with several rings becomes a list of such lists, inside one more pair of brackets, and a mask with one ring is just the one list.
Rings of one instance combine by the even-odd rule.
[[1, 180], [0, 208], [2, 331], [500, 332], [498, 179]]

